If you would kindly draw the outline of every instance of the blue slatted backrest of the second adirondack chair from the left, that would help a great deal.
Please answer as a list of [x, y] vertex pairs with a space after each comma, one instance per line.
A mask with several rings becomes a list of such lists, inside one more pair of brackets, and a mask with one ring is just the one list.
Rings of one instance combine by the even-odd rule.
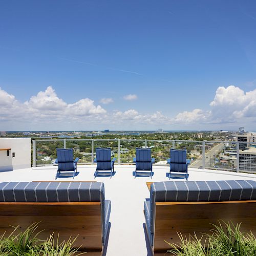
[[111, 148], [96, 148], [97, 170], [111, 170]]

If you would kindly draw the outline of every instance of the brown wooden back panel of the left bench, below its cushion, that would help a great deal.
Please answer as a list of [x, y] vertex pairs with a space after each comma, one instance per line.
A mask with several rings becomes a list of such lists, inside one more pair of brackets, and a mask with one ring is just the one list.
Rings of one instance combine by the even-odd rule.
[[77, 237], [74, 247], [90, 252], [87, 255], [101, 255], [104, 226], [101, 212], [100, 201], [0, 202], [0, 234], [6, 231], [7, 237], [13, 226], [19, 226], [18, 231], [24, 231], [31, 224], [39, 223], [37, 231], [43, 230], [38, 235], [39, 239], [45, 240], [53, 232], [55, 239], [59, 233], [59, 242], [68, 241], [71, 236], [73, 239]]

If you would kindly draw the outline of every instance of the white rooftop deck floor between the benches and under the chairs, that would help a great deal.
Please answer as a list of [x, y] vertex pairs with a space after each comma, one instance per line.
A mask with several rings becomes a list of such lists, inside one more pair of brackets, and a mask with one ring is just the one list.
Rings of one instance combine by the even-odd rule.
[[[1, 182], [5, 181], [42, 181], [54, 180], [56, 175], [56, 166], [36, 167], [34, 169], [19, 169], [12, 172], [0, 173]], [[146, 182], [167, 181], [166, 173], [168, 167], [153, 166], [154, 176], [137, 177], [134, 179], [133, 165], [115, 165], [115, 175], [110, 177], [97, 177], [97, 181], [105, 184], [105, 198], [112, 202], [110, 215], [111, 229], [109, 234], [108, 247], [106, 255], [119, 256], [151, 255], [147, 251], [144, 234], [144, 215], [143, 202], [150, 196], [146, 187]], [[78, 166], [78, 175], [75, 181], [94, 180], [95, 166]], [[188, 180], [256, 180], [256, 175], [236, 174], [231, 172], [222, 172], [219, 170], [202, 170], [189, 168]], [[72, 180], [72, 178], [58, 178], [61, 180]]]

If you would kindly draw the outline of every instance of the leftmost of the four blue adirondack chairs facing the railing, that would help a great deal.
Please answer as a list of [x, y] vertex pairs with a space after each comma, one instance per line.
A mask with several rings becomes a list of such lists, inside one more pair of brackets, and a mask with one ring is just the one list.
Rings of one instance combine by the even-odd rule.
[[61, 172], [73, 172], [73, 179], [75, 177], [75, 172], [77, 172], [77, 162], [79, 158], [75, 160], [73, 158], [73, 148], [56, 148], [57, 159], [55, 163], [58, 164], [58, 170], [55, 180], [58, 178], [58, 174]]

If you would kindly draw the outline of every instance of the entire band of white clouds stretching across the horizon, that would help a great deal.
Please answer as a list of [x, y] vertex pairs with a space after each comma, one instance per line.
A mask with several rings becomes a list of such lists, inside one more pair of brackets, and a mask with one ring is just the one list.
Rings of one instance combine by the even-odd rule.
[[[126, 95], [135, 100], [137, 95]], [[102, 104], [114, 102], [102, 98]], [[209, 109], [184, 111], [166, 116], [161, 111], [140, 113], [135, 109], [107, 112], [92, 99], [67, 103], [49, 86], [25, 102], [0, 88], [0, 130], [219, 130], [237, 129], [239, 125], [255, 127], [256, 89], [244, 92], [234, 86], [219, 87]], [[256, 130], [254, 128], [254, 130]]]

